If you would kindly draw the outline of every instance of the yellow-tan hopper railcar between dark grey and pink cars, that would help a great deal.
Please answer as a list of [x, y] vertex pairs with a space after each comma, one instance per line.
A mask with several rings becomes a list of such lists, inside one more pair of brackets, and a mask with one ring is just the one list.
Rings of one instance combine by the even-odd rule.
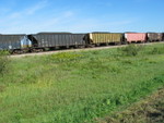
[[90, 44], [120, 44], [122, 41], [121, 33], [90, 33]]

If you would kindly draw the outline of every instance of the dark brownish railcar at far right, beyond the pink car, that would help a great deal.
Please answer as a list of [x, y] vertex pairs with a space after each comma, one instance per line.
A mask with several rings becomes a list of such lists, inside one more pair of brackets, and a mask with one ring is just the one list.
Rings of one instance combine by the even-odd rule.
[[162, 33], [148, 33], [149, 41], [162, 41], [163, 34]]

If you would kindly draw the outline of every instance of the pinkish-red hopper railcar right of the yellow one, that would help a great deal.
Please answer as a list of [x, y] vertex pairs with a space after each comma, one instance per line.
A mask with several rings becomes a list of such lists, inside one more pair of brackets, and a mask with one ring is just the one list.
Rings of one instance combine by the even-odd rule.
[[144, 42], [147, 41], [145, 33], [126, 33], [127, 42]]

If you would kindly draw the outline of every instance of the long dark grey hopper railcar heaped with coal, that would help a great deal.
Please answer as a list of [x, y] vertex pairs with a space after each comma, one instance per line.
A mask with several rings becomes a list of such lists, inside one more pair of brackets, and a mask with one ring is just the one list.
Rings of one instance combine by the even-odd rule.
[[28, 35], [33, 45], [38, 48], [84, 46], [85, 34], [71, 33], [39, 33]]

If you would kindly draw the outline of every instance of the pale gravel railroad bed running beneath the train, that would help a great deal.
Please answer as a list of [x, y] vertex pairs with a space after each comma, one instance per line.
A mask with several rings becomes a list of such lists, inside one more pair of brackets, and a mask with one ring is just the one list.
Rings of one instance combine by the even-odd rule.
[[[137, 45], [154, 45], [154, 44], [164, 44], [164, 41], [137, 44]], [[55, 51], [45, 51], [45, 52], [33, 52], [33, 53], [24, 53], [24, 54], [11, 54], [10, 58], [22, 58], [22, 57], [31, 57], [31, 56], [45, 56], [45, 54], [52, 54], [52, 53], [59, 53], [59, 52], [102, 50], [102, 49], [121, 48], [121, 47], [126, 47], [126, 46], [128, 46], [128, 45], [103, 46], [103, 47], [93, 47], [93, 48], [83, 48], [83, 49], [65, 49], [65, 50], [55, 50]]]

